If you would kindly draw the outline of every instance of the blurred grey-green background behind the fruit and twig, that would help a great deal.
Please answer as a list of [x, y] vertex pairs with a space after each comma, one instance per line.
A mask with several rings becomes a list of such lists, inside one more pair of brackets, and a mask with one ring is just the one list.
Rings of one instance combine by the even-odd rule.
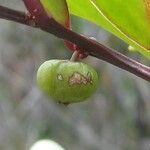
[[[0, 5], [25, 11], [21, 0]], [[72, 16], [73, 29], [137, 61], [150, 61], [100, 27]], [[58, 105], [36, 85], [36, 72], [48, 59], [68, 59], [63, 40], [0, 20], [0, 150], [29, 150], [52, 139], [66, 150], [150, 150], [150, 84], [93, 57], [84, 62], [100, 74], [95, 95], [86, 102]]]

